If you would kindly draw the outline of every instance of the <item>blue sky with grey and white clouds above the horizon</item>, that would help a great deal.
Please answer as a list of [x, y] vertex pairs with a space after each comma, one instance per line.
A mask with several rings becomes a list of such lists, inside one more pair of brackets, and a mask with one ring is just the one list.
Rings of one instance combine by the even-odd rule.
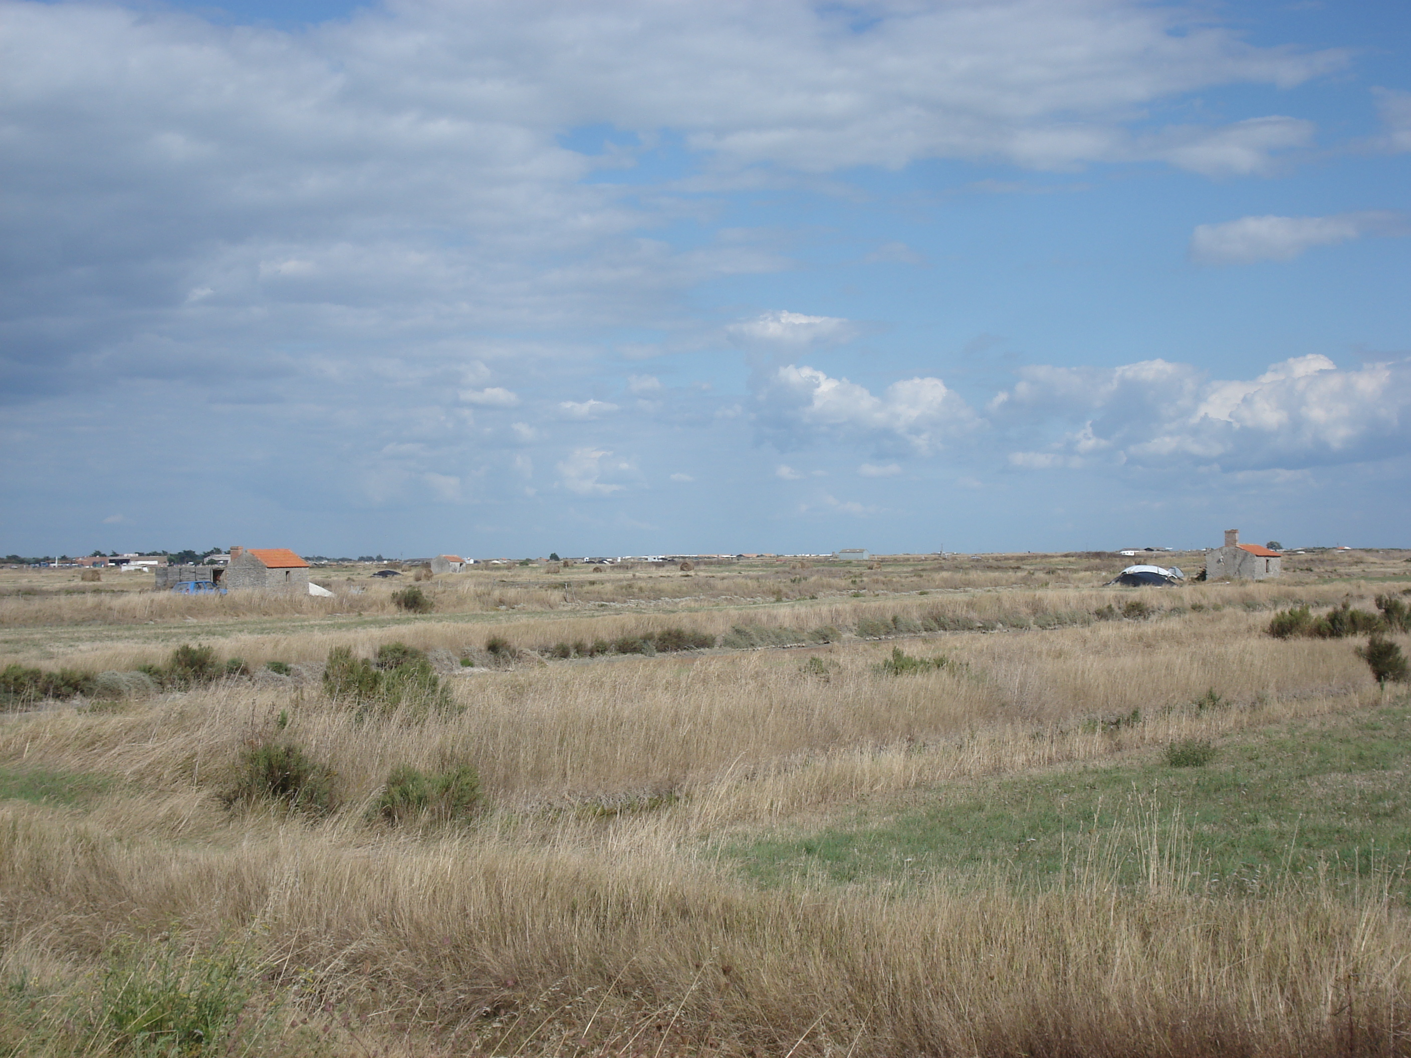
[[1411, 7], [0, 0], [0, 553], [1411, 546]]

